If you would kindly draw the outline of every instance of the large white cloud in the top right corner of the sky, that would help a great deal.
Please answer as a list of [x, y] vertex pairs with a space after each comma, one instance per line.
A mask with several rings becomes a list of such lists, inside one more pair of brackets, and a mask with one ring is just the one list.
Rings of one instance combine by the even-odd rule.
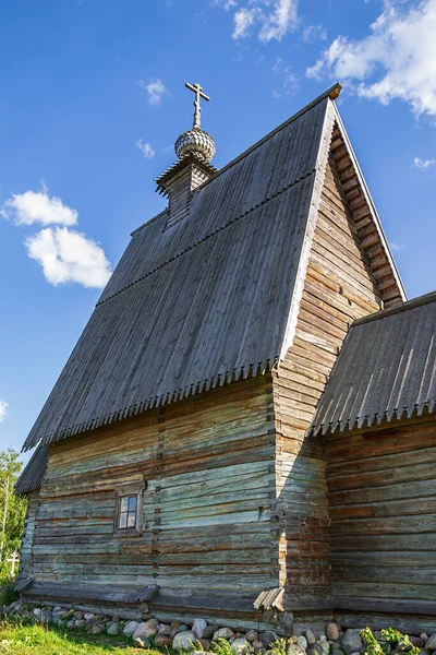
[[436, 116], [436, 0], [385, 0], [362, 39], [338, 36], [306, 74], [355, 81], [356, 93], [383, 104], [398, 98], [416, 116]]

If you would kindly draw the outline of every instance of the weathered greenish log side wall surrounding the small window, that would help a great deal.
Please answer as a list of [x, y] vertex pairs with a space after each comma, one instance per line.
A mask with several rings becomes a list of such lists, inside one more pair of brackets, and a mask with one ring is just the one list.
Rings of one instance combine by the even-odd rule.
[[[143, 478], [144, 533], [114, 537], [114, 487]], [[149, 410], [51, 445], [32, 576], [157, 584], [162, 618], [191, 593], [210, 612], [219, 598], [233, 618], [253, 612], [256, 595], [277, 586], [274, 496], [270, 377]]]

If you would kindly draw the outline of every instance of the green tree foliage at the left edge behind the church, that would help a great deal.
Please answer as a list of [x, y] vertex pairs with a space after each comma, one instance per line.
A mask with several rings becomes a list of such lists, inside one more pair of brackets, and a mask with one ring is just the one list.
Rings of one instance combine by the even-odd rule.
[[15, 496], [14, 485], [23, 467], [19, 453], [0, 451], [0, 561], [20, 550], [27, 500]]

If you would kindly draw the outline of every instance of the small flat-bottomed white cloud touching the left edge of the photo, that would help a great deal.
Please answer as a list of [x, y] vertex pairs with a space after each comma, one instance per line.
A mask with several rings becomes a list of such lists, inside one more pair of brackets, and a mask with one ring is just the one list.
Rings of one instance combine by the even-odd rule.
[[43, 186], [41, 191], [13, 193], [1, 207], [0, 214], [13, 221], [15, 225], [75, 225], [78, 216], [77, 212], [63, 204], [60, 198], [50, 198], [46, 186]]

